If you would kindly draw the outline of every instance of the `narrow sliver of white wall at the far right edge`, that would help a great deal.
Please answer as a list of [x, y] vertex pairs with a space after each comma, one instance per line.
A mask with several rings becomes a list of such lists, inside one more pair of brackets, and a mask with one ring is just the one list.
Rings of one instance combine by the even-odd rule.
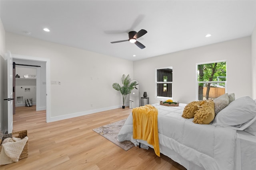
[[256, 99], [256, 25], [252, 33], [252, 98]]

